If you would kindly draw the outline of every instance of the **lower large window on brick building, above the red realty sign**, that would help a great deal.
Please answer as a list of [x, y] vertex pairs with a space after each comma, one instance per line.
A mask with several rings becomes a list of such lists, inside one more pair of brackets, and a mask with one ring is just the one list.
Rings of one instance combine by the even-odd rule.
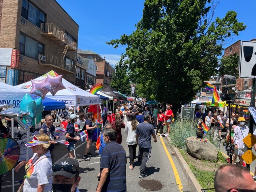
[[25, 35], [19, 35], [19, 50], [21, 54], [31, 57], [33, 59], [38, 59], [39, 54], [44, 54], [44, 45], [38, 43], [26, 37]]

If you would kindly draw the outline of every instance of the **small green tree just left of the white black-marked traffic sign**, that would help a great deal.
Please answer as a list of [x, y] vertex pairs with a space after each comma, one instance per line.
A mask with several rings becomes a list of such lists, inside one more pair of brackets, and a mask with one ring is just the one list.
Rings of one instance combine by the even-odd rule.
[[219, 76], [227, 74], [238, 77], [238, 61], [237, 53], [222, 57], [219, 62]]

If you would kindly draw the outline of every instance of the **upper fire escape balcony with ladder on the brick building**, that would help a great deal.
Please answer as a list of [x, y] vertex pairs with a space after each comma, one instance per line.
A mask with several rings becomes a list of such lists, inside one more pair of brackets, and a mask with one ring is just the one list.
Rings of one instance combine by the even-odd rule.
[[53, 23], [41, 23], [41, 34], [53, 41], [63, 42], [68, 45], [68, 50], [76, 50], [76, 42]]

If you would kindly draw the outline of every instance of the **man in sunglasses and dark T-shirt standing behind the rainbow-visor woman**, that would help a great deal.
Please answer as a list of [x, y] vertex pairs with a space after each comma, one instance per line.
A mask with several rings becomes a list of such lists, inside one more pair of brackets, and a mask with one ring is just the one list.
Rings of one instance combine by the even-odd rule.
[[54, 149], [54, 144], [57, 143], [54, 140], [55, 139], [59, 139], [60, 137], [59, 136], [54, 136], [54, 134], [53, 134], [54, 131], [55, 131], [55, 127], [53, 125], [53, 117], [52, 117], [52, 115], [46, 115], [45, 116], [45, 123], [42, 125], [42, 127], [40, 127], [39, 131], [40, 131], [40, 133], [45, 133], [50, 138], [50, 147], [48, 148], [48, 150], [51, 153], [52, 163], [53, 163], [54, 162], [53, 149]]

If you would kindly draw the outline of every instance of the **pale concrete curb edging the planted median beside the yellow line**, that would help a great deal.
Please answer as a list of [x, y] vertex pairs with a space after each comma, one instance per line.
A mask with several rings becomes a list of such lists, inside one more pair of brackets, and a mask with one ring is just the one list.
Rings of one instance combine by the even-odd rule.
[[[170, 143], [169, 137], [166, 137], [166, 138]], [[176, 158], [177, 158], [178, 162], [180, 163], [181, 169], [183, 170], [185, 176], [187, 176], [189, 185], [192, 187], [192, 191], [193, 192], [201, 192], [202, 186], [199, 184], [195, 175], [192, 173], [191, 169], [188, 166], [188, 163], [184, 160], [184, 158], [180, 154], [180, 151], [176, 147], [173, 147], [173, 146], [170, 146], [170, 147], [176, 153]]]

